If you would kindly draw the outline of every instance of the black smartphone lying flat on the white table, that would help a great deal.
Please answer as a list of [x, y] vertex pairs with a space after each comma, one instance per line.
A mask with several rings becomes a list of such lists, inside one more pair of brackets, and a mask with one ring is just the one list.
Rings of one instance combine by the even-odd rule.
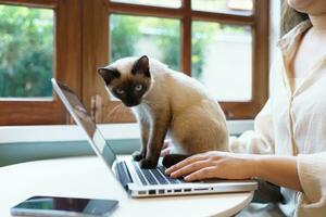
[[115, 200], [33, 196], [11, 208], [14, 216], [104, 217], [117, 205]]

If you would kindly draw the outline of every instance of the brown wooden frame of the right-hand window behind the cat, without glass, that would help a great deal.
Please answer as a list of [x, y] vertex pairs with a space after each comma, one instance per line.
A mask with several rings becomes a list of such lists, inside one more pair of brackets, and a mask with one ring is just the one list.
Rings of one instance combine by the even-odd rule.
[[[87, 3], [87, 0], [84, 0]], [[191, 0], [183, 0], [181, 8], [163, 8], [152, 7], [142, 4], [128, 4], [111, 2], [109, 0], [98, 1], [97, 10], [92, 13], [98, 13], [97, 29], [92, 29], [93, 37], [97, 41], [102, 41], [101, 46], [96, 42], [97, 53], [88, 53], [86, 55], [97, 56], [91, 64], [87, 64], [88, 68], [92, 68], [92, 72], [85, 71], [85, 76], [90, 76], [93, 71], [101, 65], [106, 65], [109, 60], [109, 17], [110, 14], [124, 14], [124, 15], [141, 15], [141, 16], [154, 16], [165, 18], [177, 18], [180, 20], [180, 71], [187, 75], [191, 74], [191, 22], [192, 21], [206, 21], [206, 22], [218, 22], [223, 24], [236, 24], [236, 25], [249, 25], [252, 28], [252, 100], [247, 102], [220, 102], [224, 110], [227, 119], [252, 119], [265, 104], [268, 97], [268, 29], [269, 29], [269, 0], [253, 0], [252, 14], [248, 13], [218, 13], [218, 12], [203, 12], [191, 10]], [[89, 3], [88, 3], [89, 4]], [[91, 7], [91, 5], [89, 5]], [[106, 11], [105, 9], [106, 8]], [[84, 10], [86, 8], [84, 7]], [[87, 9], [89, 9], [87, 7]], [[84, 11], [84, 16], [89, 10]], [[100, 13], [99, 13], [100, 12]], [[87, 18], [86, 18], [87, 17]], [[86, 15], [85, 18], [89, 22], [95, 17], [95, 14]], [[102, 23], [99, 23], [102, 21]], [[99, 26], [100, 24], [100, 26]], [[88, 30], [89, 31], [89, 30]], [[89, 47], [89, 41], [83, 42], [84, 48]], [[99, 55], [100, 53], [100, 55]], [[86, 58], [84, 60], [89, 60]], [[110, 60], [109, 60], [110, 62]], [[85, 63], [84, 63], [85, 65]], [[84, 77], [85, 77], [84, 76]], [[99, 77], [99, 76], [98, 76]], [[100, 92], [101, 95], [105, 95], [102, 82], [95, 76], [89, 77], [92, 80], [91, 84], [97, 84], [97, 87], [91, 89]], [[84, 80], [83, 87], [90, 86], [89, 79]], [[92, 85], [93, 86], [93, 85]], [[89, 88], [84, 88], [88, 91]], [[85, 92], [87, 102], [90, 102], [91, 95], [97, 94], [96, 92]], [[120, 103], [114, 101], [102, 100], [103, 111], [111, 111]], [[88, 103], [88, 108], [90, 108]], [[102, 115], [103, 116], [103, 115]], [[116, 117], [118, 116], [118, 117]], [[129, 113], [120, 113], [118, 115], [112, 115], [113, 118], [105, 119], [101, 117], [99, 122], [121, 123], [121, 122], [134, 122], [135, 118]]]

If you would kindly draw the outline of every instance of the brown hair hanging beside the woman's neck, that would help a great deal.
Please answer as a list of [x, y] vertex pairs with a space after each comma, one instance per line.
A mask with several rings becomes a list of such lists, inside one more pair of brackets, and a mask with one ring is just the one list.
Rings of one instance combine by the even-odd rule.
[[281, 7], [281, 35], [287, 34], [302, 21], [309, 20], [308, 14], [296, 11], [287, 0], [283, 0]]

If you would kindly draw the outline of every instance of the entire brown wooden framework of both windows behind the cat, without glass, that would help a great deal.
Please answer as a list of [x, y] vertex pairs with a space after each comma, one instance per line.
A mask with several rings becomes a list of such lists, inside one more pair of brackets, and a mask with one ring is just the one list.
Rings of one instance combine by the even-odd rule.
[[[135, 122], [128, 108], [110, 114], [120, 102], [106, 100], [103, 81], [97, 74], [108, 65], [110, 14], [177, 18], [180, 21], [180, 71], [191, 72], [191, 21], [241, 24], [252, 27], [252, 100], [220, 102], [228, 119], [251, 119], [268, 97], [269, 0], [253, 0], [253, 13], [192, 11], [190, 0], [181, 8], [163, 8], [110, 2], [109, 0], [0, 0], [1, 4], [46, 8], [54, 11], [53, 76], [72, 87], [97, 123]], [[0, 101], [0, 125], [68, 124], [71, 119], [60, 100]], [[106, 118], [110, 114], [110, 118]]]

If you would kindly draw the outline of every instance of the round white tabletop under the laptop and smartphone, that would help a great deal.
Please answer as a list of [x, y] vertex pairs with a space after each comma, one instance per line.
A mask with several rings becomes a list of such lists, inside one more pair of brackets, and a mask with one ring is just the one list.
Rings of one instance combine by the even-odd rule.
[[0, 216], [34, 195], [114, 199], [113, 216], [231, 216], [253, 192], [131, 199], [99, 157], [70, 157], [0, 168]]

